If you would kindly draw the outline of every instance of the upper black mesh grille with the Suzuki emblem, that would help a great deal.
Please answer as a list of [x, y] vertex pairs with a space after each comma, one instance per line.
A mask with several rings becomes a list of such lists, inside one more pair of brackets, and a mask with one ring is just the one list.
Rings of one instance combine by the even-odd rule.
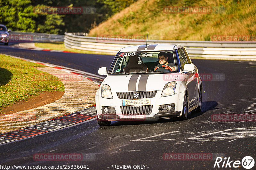
[[[156, 92], [157, 91], [116, 92], [116, 95], [119, 99], [144, 99], [155, 97]], [[138, 97], [136, 98], [136, 96]]]

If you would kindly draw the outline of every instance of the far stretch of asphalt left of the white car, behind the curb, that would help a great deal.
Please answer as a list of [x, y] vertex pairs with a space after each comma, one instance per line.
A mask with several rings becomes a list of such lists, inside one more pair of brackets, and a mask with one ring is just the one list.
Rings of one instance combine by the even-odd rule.
[[[77, 70], [98, 74], [98, 68], [110, 67], [115, 56], [113, 55], [97, 55], [97, 54], [81, 54], [81, 53], [60, 53], [45, 51], [31, 51], [28, 49], [13, 48], [10, 46], [0, 45], [0, 51], [17, 57], [30, 60], [51, 63], [59, 66], [70, 67]], [[86, 56], [86, 57], [85, 57]]]

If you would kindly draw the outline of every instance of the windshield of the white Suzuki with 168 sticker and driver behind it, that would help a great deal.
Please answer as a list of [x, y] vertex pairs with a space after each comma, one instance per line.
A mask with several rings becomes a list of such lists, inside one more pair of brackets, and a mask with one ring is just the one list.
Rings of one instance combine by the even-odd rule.
[[176, 72], [173, 51], [120, 52], [111, 70], [117, 74], [163, 74]]

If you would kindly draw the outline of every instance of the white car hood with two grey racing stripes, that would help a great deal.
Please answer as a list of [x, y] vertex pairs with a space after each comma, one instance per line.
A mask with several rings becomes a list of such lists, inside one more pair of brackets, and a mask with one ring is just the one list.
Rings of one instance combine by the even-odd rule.
[[179, 76], [182, 74], [108, 75], [102, 84], [109, 85], [112, 92], [163, 90], [166, 83]]

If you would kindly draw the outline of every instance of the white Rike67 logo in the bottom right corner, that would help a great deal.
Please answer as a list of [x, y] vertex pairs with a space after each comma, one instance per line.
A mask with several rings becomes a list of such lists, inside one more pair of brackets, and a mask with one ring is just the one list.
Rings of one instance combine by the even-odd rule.
[[241, 162], [240, 160], [230, 160], [230, 157], [228, 159], [226, 157], [224, 159], [217, 157], [213, 167], [231, 168], [232, 166], [234, 168], [243, 166], [245, 169], [251, 169], [254, 166], [254, 159], [251, 156], [245, 156]]

